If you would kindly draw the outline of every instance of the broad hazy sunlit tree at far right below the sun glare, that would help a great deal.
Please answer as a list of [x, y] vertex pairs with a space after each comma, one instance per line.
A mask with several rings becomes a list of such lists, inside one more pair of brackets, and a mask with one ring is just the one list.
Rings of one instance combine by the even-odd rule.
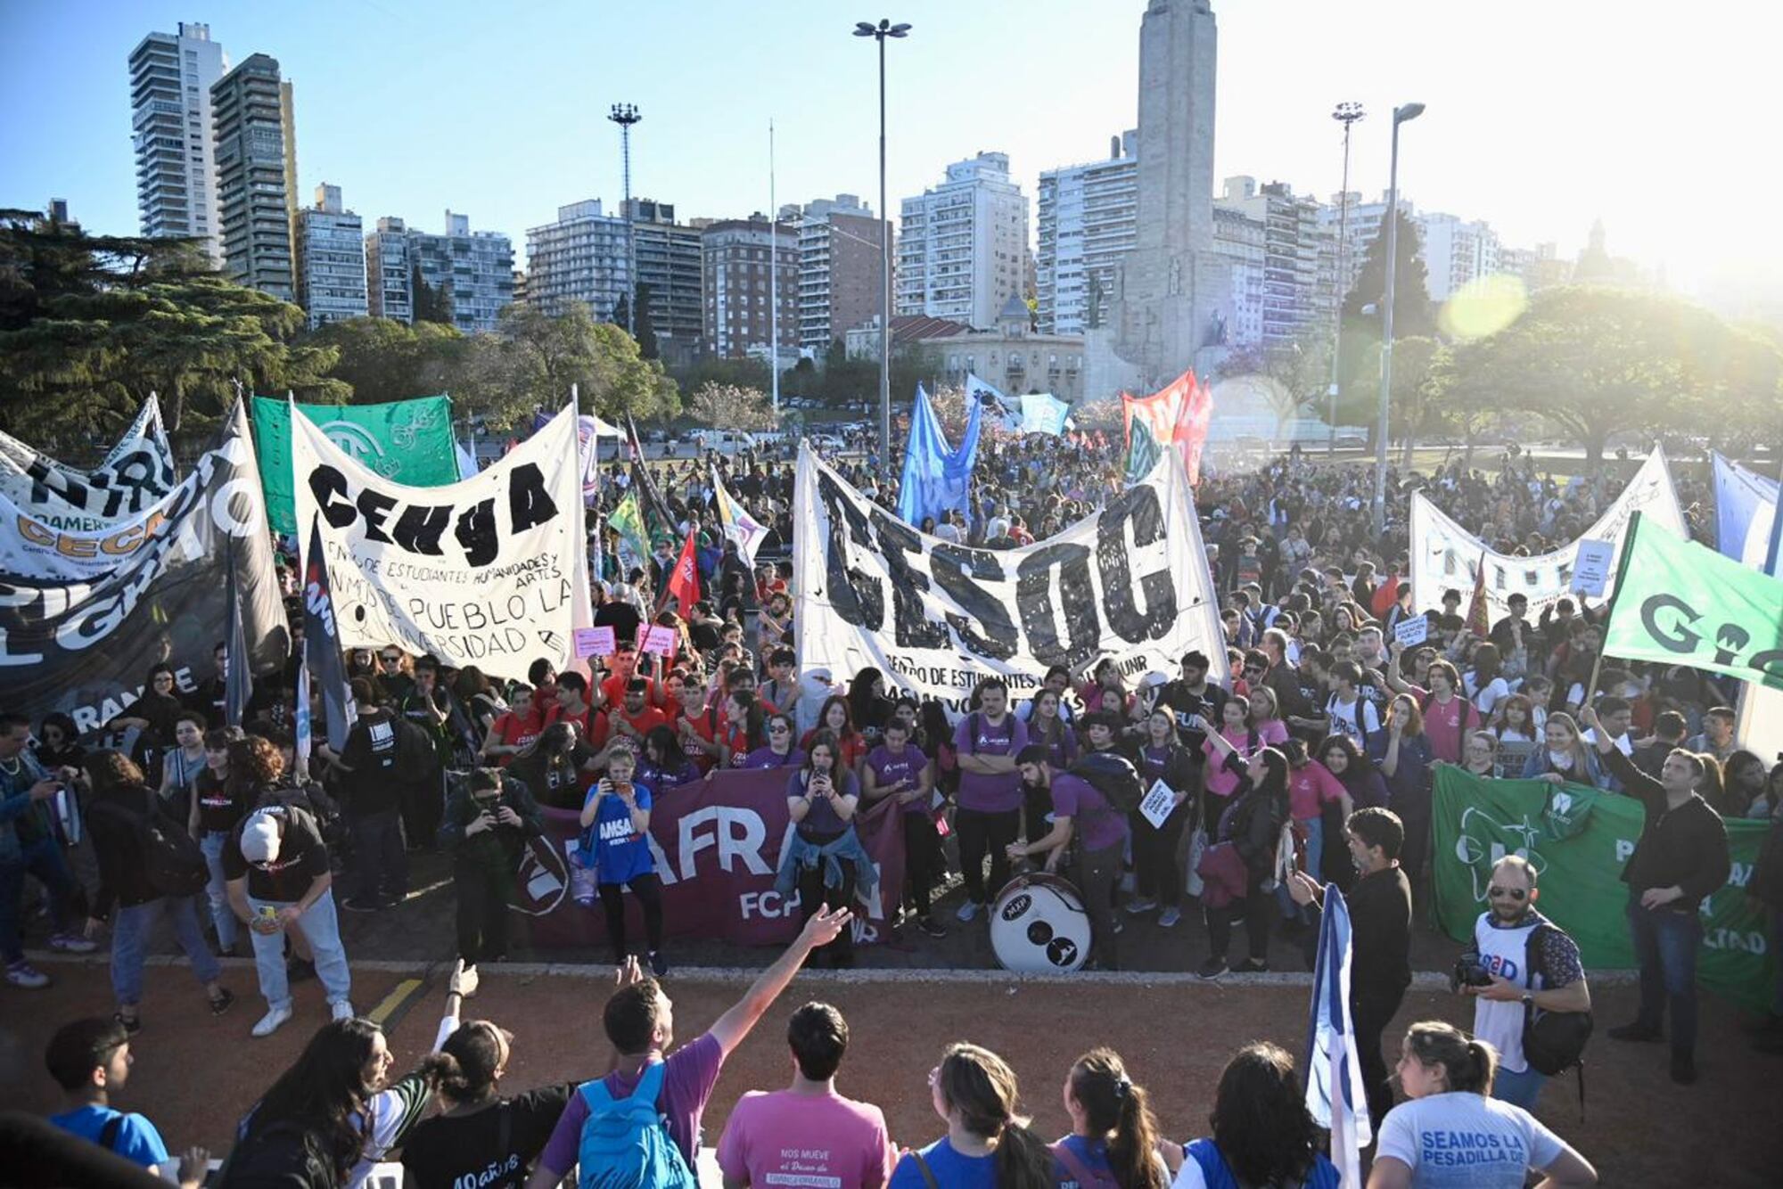
[[1623, 430], [1774, 433], [1783, 422], [1774, 344], [1703, 307], [1635, 289], [1542, 289], [1505, 330], [1455, 346], [1441, 380], [1451, 406], [1548, 417], [1590, 462]]

